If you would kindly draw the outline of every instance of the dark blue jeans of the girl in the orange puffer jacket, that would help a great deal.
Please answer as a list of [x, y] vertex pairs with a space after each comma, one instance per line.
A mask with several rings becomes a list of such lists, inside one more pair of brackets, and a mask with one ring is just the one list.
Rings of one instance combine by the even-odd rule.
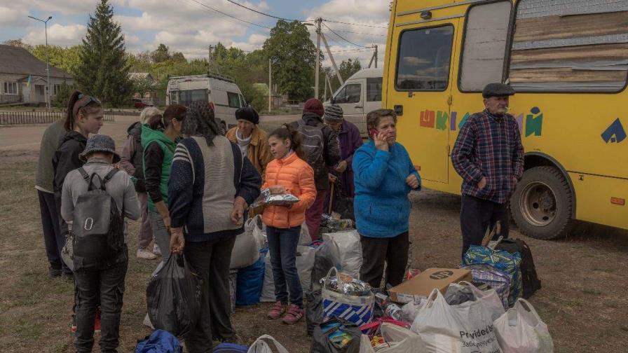
[[266, 227], [268, 252], [273, 266], [275, 300], [303, 307], [303, 289], [296, 270], [296, 246], [299, 245], [301, 226], [293, 228]]

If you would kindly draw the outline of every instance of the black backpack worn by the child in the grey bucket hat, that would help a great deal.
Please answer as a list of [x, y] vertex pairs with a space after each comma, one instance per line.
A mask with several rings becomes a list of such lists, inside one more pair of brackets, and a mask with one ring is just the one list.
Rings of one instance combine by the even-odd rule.
[[[105, 188], [118, 169], [111, 169], [104, 179], [96, 173], [90, 176], [83, 168], [78, 172], [88, 183], [88, 191], [78, 196], [74, 206], [74, 270], [108, 268], [116, 263], [124, 247], [123, 216]], [[94, 179], [98, 179], [98, 186]]]

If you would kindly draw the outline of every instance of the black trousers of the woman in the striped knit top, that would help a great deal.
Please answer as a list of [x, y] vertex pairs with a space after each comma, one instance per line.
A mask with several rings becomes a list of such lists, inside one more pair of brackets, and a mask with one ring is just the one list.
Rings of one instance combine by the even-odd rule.
[[218, 237], [208, 242], [186, 242], [186, 260], [201, 278], [200, 318], [185, 339], [190, 353], [212, 352], [212, 339], [233, 341], [231, 298], [229, 296], [229, 265], [235, 235]]

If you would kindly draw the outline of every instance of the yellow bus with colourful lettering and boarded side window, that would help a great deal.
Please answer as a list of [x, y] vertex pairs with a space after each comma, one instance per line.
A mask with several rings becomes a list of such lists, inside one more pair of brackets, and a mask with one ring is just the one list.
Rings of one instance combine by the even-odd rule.
[[522, 233], [573, 220], [628, 229], [628, 1], [396, 0], [383, 106], [427, 188], [460, 193], [458, 131], [486, 83], [510, 83], [526, 151], [510, 200]]

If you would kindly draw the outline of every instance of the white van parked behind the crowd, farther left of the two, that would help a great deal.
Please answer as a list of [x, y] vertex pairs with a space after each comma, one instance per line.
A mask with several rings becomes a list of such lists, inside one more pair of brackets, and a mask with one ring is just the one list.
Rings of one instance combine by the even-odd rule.
[[168, 79], [166, 104], [189, 106], [205, 101], [214, 107], [216, 118], [226, 131], [237, 124], [235, 111], [246, 106], [242, 91], [233, 78], [221, 74], [172, 76]]

